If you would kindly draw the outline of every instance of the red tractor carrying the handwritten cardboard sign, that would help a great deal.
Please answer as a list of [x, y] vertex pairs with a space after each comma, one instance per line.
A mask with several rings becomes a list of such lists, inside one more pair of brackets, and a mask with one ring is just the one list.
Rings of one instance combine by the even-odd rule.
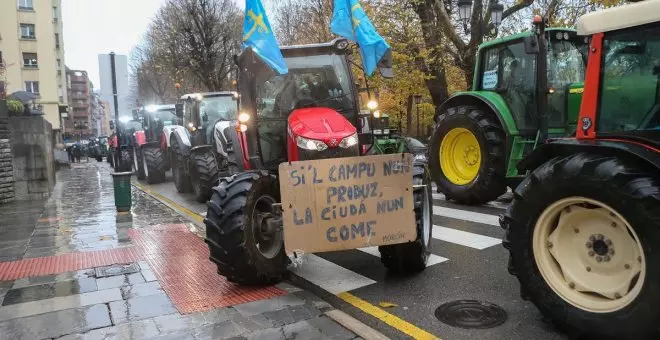
[[[359, 123], [359, 96], [347, 40], [282, 47], [281, 51], [289, 67], [285, 75], [275, 75], [251, 49], [236, 59], [239, 124], [228, 131], [227, 139], [234, 157], [241, 160], [237, 163], [242, 172], [222, 178], [208, 202], [205, 224], [210, 259], [219, 274], [237, 283], [275, 282], [287, 270], [278, 166], [358, 157], [364, 154], [363, 145], [383, 137], [363, 133]], [[374, 116], [372, 131], [381, 135], [389, 131], [387, 119]], [[430, 176], [424, 162], [415, 161], [411, 168], [413, 241], [379, 247], [381, 261], [394, 272], [423, 270], [430, 253]]]

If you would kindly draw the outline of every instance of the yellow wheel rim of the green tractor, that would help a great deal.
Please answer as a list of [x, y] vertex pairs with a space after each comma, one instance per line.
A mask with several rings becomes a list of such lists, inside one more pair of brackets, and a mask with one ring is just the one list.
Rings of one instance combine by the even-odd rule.
[[481, 167], [481, 150], [474, 134], [465, 128], [450, 130], [440, 143], [440, 168], [456, 185], [472, 182]]

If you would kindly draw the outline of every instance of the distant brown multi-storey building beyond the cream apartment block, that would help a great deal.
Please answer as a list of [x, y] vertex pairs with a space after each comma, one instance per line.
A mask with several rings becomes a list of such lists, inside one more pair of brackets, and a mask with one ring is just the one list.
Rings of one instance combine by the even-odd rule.
[[87, 71], [66, 70], [69, 114], [64, 119], [64, 139], [82, 140], [93, 135], [90, 94], [91, 83]]

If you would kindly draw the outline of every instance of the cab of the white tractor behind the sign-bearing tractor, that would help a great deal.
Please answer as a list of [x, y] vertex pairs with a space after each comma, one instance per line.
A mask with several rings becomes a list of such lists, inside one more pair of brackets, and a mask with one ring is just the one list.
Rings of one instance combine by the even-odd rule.
[[181, 96], [176, 115], [190, 134], [193, 146], [212, 145], [214, 131], [222, 133], [236, 118], [236, 93], [207, 92]]

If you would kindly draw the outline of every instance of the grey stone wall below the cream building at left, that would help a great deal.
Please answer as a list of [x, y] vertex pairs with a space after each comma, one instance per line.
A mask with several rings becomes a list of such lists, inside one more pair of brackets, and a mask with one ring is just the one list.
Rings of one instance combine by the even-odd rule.
[[15, 199], [48, 198], [55, 186], [51, 124], [42, 116], [10, 117], [8, 126]]

